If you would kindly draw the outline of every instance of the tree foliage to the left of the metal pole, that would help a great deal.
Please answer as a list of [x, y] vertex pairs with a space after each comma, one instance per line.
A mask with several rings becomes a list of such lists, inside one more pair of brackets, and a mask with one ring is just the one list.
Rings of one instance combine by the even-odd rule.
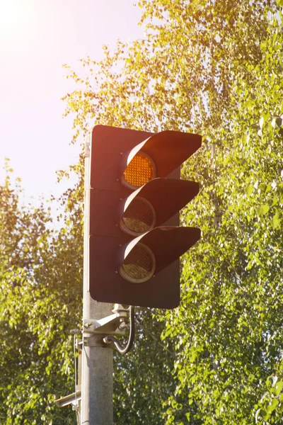
[[0, 187], [0, 421], [74, 424], [54, 399], [74, 385], [69, 330], [81, 316], [81, 241], [54, 232], [43, 205], [21, 205], [11, 169]]

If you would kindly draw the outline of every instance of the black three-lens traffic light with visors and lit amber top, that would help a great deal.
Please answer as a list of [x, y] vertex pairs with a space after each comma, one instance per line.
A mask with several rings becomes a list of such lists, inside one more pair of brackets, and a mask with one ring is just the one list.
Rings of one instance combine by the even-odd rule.
[[178, 227], [198, 191], [180, 180], [180, 164], [200, 135], [93, 128], [90, 292], [100, 302], [173, 308], [180, 302], [179, 257], [200, 229]]

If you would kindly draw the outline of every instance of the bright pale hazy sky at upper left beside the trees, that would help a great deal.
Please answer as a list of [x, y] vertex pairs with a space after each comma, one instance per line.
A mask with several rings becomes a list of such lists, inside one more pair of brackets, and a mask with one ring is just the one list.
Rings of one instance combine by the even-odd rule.
[[[101, 46], [143, 36], [134, 0], [0, 0], [0, 185], [4, 157], [30, 196], [58, 196], [55, 171], [75, 164], [71, 118], [60, 98], [74, 89], [62, 64], [103, 57]], [[36, 203], [36, 202], [35, 202]]]

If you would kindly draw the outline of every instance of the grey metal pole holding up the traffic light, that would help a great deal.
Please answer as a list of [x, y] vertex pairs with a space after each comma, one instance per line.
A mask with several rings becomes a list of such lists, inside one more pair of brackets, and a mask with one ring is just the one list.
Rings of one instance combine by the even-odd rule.
[[[83, 235], [83, 324], [111, 314], [112, 305], [96, 302], [89, 293], [89, 207], [91, 177], [91, 135], [86, 137]], [[91, 334], [83, 327], [81, 376], [81, 425], [112, 425], [113, 353], [103, 344], [104, 335]]]

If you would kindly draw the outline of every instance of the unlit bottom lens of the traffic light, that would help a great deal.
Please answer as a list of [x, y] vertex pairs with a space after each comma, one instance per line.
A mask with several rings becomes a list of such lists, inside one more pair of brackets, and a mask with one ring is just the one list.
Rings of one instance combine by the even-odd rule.
[[131, 283], [149, 280], [155, 271], [155, 258], [148, 246], [137, 243], [120, 267], [120, 275]]

